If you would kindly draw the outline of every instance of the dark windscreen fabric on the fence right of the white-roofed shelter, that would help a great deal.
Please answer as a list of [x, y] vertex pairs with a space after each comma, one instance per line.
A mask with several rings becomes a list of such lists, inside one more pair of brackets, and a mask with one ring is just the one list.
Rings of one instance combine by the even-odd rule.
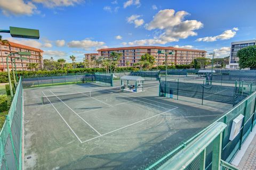
[[[166, 84], [166, 88], [165, 88]], [[217, 86], [210, 84], [197, 84], [178, 81], [161, 81], [160, 93], [178, 96], [186, 96], [203, 100], [217, 101], [236, 105], [246, 95], [239, 94], [239, 88], [229, 86]]]

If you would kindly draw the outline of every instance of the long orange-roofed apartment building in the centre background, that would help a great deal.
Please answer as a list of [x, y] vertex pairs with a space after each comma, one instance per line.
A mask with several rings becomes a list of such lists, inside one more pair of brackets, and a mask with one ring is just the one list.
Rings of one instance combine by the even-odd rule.
[[[167, 50], [167, 52], [174, 52], [174, 55], [167, 56], [167, 62], [180, 65], [180, 64], [190, 64], [195, 58], [206, 57], [205, 50], [196, 49], [184, 49], [184, 48], [174, 48], [174, 47], [161, 47], [161, 46], [135, 46], [135, 47], [120, 47], [120, 48], [103, 48], [98, 50], [98, 55], [103, 57], [110, 57], [112, 52], [121, 53], [121, 61], [119, 66], [133, 66], [137, 63], [141, 56], [148, 53], [155, 57], [155, 66], [163, 65], [165, 61], [165, 54], [158, 54], [158, 50]], [[128, 62], [127, 62], [128, 61]], [[127, 63], [126, 63], [127, 62]]]

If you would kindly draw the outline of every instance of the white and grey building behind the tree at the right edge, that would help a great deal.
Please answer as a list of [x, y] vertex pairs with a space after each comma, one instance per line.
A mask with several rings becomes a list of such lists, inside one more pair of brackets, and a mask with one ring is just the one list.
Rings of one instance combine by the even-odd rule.
[[239, 58], [237, 57], [237, 52], [239, 49], [248, 46], [256, 45], [256, 40], [246, 40], [246, 41], [236, 41], [231, 43], [230, 47], [230, 57], [229, 57], [229, 65], [226, 65], [227, 69], [239, 69]]

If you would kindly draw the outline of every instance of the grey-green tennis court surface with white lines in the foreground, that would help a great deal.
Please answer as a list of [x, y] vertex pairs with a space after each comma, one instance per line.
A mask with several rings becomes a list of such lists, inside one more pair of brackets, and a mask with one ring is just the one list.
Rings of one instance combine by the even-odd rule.
[[137, 94], [119, 84], [25, 89], [25, 169], [138, 169], [231, 107], [159, 97], [157, 81]]

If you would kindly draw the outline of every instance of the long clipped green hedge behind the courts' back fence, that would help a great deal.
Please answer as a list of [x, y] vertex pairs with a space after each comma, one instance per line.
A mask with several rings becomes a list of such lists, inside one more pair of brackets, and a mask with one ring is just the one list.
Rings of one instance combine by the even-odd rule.
[[[168, 69], [189, 69], [190, 65], [169, 65]], [[152, 68], [153, 70], [156, 69], [156, 67]], [[164, 70], [165, 66], [161, 65], [158, 66], [158, 69]], [[117, 67], [116, 71], [135, 71], [138, 70], [138, 68], [135, 67]], [[114, 71], [114, 69], [113, 69]], [[95, 72], [106, 72], [105, 68], [79, 68], [79, 69], [63, 69], [63, 70], [51, 70], [51, 71], [18, 71], [18, 76], [22, 77], [47, 77], [52, 75], [66, 75], [66, 74], [76, 74], [76, 73], [95, 73]], [[11, 74], [11, 79], [12, 74]], [[8, 75], [7, 72], [0, 72], [0, 83], [6, 83], [8, 82]]]

